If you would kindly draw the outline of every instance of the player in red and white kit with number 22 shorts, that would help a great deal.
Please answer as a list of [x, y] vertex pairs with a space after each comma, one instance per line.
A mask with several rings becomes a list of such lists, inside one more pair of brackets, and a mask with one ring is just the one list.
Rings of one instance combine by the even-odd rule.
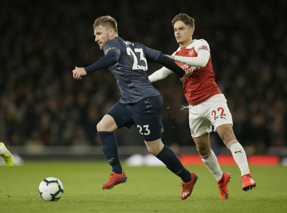
[[[169, 57], [185, 71], [193, 72], [189, 80], [183, 83], [184, 95], [189, 103], [190, 131], [203, 163], [216, 178], [220, 199], [225, 200], [228, 199], [227, 184], [230, 175], [221, 171], [216, 155], [210, 148], [209, 133], [212, 125], [213, 131], [218, 132], [239, 166], [242, 189], [248, 191], [256, 187], [256, 184], [250, 175], [245, 151], [233, 133], [232, 117], [225, 96], [215, 83], [208, 43], [203, 39], [192, 39], [194, 19], [185, 13], [176, 15], [172, 26], [179, 48]], [[171, 73], [163, 67], [150, 75], [149, 80], [155, 82]]]

